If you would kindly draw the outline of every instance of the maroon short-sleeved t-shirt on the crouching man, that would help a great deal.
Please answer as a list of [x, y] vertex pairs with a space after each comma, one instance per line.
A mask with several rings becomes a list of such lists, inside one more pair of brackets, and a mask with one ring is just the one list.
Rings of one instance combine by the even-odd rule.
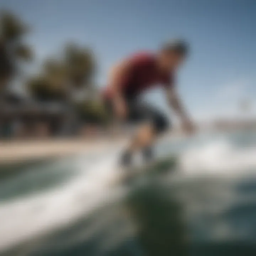
[[[156, 85], [172, 86], [173, 74], [163, 73], [157, 67], [156, 55], [148, 52], [137, 53], [128, 58], [129, 72], [121, 79], [120, 89], [125, 98], [134, 98]], [[107, 86], [103, 95], [112, 98], [111, 86]]]

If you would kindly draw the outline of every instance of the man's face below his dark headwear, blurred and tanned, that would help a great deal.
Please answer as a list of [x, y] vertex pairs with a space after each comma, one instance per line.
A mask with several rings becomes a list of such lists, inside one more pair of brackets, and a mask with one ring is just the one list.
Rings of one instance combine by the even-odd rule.
[[178, 69], [185, 60], [185, 57], [177, 52], [161, 52], [161, 67], [167, 71]]

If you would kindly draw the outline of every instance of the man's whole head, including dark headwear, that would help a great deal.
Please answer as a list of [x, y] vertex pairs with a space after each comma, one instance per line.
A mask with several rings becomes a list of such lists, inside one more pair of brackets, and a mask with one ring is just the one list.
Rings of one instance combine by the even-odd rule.
[[159, 53], [160, 68], [165, 70], [177, 69], [188, 54], [188, 45], [185, 41], [175, 40], [162, 45]]

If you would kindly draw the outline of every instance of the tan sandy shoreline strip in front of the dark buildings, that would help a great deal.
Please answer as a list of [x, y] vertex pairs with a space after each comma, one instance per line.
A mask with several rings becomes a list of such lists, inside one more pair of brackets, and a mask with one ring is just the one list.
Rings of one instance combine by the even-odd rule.
[[107, 149], [113, 143], [121, 144], [124, 139], [72, 138], [43, 140], [11, 140], [0, 142], [0, 169], [3, 165], [19, 164], [80, 153]]

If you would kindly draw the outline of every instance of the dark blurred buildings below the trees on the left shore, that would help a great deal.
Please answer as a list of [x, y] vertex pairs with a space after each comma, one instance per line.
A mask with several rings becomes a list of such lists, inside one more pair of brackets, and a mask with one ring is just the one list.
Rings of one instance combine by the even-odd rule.
[[1, 138], [69, 135], [70, 109], [64, 103], [39, 102], [9, 93], [1, 102]]

